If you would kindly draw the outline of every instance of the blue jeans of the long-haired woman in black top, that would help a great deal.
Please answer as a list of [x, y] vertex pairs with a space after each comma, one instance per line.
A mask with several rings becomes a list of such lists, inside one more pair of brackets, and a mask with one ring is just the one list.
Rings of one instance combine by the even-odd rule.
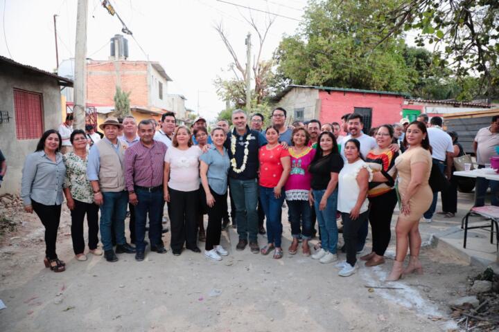
[[315, 201], [315, 214], [321, 231], [322, 248], [331, 254], [336, 253], [338, 246], [338, 226], [336, 225], [336, 208], [338, 207], [338, 188], [329, 195], [326, 208], [319, 210], [319, 204], [326, 190], [312, 190]]

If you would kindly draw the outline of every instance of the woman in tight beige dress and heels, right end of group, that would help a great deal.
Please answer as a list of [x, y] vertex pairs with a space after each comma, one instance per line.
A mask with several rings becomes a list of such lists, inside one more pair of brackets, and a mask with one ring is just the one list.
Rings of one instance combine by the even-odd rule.
[[[409, 148], [395, 160], [395, 167], [399, 172], [401, 213], [395, 228], [394, 266], [386, 279], [387, 282], [394, 282], [403, 274], [423, 272], [419, 262], [421, 249], [419, 219], [430, 208], [433, 198], [428, 184], [432, 167], [431, 147], [425, 124], [419, 121], [411, 122], [405, 133], [403, 144]], [[403, 270], [403, 261], [408, 247], [410, 248], [409, 266]]]

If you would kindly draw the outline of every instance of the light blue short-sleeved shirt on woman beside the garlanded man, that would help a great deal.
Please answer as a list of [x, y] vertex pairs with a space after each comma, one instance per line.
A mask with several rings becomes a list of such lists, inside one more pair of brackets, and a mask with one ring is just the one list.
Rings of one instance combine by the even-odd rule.
[[229, 174], [230, 160], [227, 149], [223, 148], [223, 155], [215, 146], [200, 156], [200, 160], [208, 165], [208, 184], [219, 195], [227, 192], [227, 174]]

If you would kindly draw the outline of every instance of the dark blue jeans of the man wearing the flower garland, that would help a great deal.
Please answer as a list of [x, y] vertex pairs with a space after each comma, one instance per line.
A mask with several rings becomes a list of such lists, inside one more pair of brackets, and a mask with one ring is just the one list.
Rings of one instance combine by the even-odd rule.
[[230, 192], [236, 206], [236, 224], [240, 240], [256, 242], [258, 233], [258, 183], [252, 180], [229, 178]]

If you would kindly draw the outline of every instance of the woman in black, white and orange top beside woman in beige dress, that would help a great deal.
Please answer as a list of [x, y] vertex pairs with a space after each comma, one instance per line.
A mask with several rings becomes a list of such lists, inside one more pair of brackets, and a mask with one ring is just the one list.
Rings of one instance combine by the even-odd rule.
[[372, 181], [369, 182], [369, 223], [372, 232], [372, 251], [360, 257], [366, 261], [365, 266], [376, 266], [385, 263], [385, 251], [391, 237], [390, 223], [397, 202], [395, 192], [396, 167], [395, 158], [399, 152], [390, 149], [394, 138], [394, 128], [383, 124], [376, 131], [376, 144], [366, 156], [367, 165], [373, 171]]

